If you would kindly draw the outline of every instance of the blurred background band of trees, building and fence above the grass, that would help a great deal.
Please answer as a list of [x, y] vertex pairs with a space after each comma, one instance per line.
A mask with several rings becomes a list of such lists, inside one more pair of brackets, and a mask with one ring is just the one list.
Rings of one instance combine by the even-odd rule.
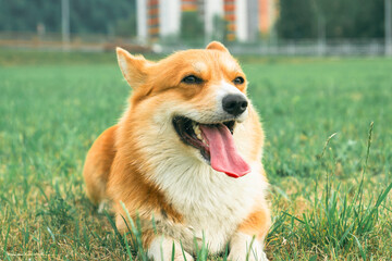
[[0, 47], [391, 55], [392, 0], [0, 0]]

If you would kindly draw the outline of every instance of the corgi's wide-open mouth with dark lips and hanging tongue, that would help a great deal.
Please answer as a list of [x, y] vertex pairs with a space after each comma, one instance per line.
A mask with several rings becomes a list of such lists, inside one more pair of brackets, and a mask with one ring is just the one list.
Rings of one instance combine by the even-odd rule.
[[212, 169], [232, 177], [250, 172], [242, 159], [232, 137], [235, 121], [201, 124], [185, 116], [173, 117], [173, 126], [181, 140], [198, 149]]

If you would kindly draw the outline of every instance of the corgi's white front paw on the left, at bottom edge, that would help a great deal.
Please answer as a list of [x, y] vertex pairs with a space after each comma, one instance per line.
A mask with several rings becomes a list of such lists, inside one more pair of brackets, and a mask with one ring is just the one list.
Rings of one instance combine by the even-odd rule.
[[[173, 254], [174, 244], [174, 254]], [[156, 237], [148, 249], [148, 257], [154, 261], [171, 261], [174, 257], [174, 261], [193, 261], [194, 258], [181, 248], [181, 245], [163, 236]]]

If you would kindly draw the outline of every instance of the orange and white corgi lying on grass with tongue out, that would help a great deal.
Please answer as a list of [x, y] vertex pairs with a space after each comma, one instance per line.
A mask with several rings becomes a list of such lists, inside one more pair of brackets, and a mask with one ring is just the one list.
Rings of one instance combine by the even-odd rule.
[[229, 260], [267, 260], [265, 135], [237, 61], [218, 41], [159, 62], [117, 55], [133, 91], [88, 151], [88, 198], [112, 203], [119, 231], [123, 206], [139, 219], [152, 260], [189, 261], [203, 244], [210, 253], [228, 247]]

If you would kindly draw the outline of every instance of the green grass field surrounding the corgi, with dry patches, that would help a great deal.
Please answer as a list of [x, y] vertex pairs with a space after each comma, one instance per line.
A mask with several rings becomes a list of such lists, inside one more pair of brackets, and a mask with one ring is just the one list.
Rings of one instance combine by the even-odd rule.
[[[0, 260], [145, 260], [84, 194], [85, 154], [130, 92], [114, 59], [0, 51]], [[242, 64], [267, 133], [268, 257], [390, 260], [392, 60]]]

